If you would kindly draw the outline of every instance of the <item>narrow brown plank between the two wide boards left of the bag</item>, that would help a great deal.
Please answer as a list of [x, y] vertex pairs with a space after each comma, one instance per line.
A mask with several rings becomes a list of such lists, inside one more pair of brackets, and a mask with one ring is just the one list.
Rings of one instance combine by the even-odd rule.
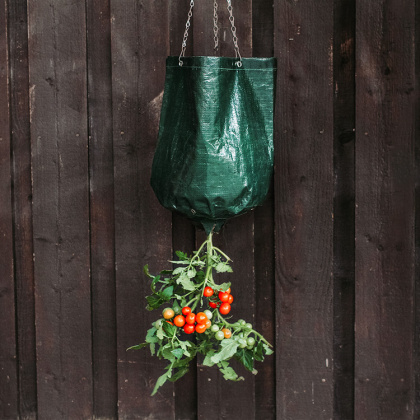
[[117, 416], [111, 23], [109, 1], [87, 2], [93, 411]]

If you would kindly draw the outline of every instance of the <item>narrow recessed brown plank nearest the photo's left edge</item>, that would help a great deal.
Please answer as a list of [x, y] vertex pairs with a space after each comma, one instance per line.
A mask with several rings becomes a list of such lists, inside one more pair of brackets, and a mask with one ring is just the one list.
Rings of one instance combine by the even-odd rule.
[[19, 413], [36, 418], [35, 296], [26, 1], [9, 2], [10, 123], [19, 360]]

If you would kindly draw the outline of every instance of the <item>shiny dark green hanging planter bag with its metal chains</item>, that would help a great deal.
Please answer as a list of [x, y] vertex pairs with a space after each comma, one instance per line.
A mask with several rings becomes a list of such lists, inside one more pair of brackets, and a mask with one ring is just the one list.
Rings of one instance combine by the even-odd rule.
[[[218, 231], [261, 204], [273, 172], [275, 58], [242, 58], [228, 0], [236, 58], [168, 57], [152, 166], [160, 203]], [[215, 47], [217, 14], [215, 2]]]

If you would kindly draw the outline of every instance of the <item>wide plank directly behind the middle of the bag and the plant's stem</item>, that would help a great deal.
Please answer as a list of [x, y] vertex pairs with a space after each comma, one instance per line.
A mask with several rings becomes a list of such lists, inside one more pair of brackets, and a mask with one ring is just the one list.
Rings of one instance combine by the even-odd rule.
[[[243, 57], [252, 54], [252, 2], [232, 2], [239, 49]], [[215, 53], [213, 42], [213, 3], [197, 7], [194, 21], [194, 54], [234, 56], [232, 33], [226, 3], [219, 2], [219, 42]], [[202, 232], [198, 241], [204, 240]], [[232, 258], [234, 273], [224, 275], [220, 281], [232, 282], [232, 320], [244, 318], [247, 322], [255, 320], [255, 271], [254, 271], [254, 214], [232, 219], [215, 235], [216, 246]], [[217, 281], [217, 279], [216, 279]], [[245, 381], [232, 383], [223, 379], [217, 368], [198, 364], [198, 418], [254, 418], [255, 376], [240, 365], [232, 363]]]

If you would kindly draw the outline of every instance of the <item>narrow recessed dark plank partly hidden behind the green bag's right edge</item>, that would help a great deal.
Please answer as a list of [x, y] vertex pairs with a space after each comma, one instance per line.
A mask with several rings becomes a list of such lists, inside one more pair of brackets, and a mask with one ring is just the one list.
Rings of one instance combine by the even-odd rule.
[[[270, 0], [252, 3], [252, 55], [272, 57], [274, 13]], [[276, 144], [277, 147], [277, 144]], [[272, 344], [275, 342], [274, 290], [274, 191], [271, 185], [266, 201], [254, 212], [255, 237], [255, 326]], [[275, 356], [257, 365], [255, 377], [255, 418], [276, 418]]]

